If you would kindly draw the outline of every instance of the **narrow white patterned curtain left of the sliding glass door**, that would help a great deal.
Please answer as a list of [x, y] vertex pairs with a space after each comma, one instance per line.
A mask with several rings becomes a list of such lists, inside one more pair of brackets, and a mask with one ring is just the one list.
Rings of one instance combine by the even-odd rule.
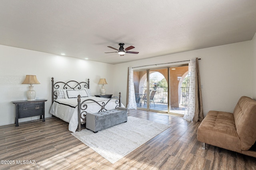
[[127, 109], [137, 109], [135, 100], [134, 82], [133, 82], [133, 68], [128, 67], [128, 88], [127, 88]]

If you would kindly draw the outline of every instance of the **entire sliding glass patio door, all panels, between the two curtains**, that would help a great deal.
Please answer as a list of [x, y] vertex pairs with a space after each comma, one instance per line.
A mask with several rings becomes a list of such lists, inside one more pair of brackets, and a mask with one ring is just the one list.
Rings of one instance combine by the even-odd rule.
[[187, 65], [134, 70], [137, 108], [184, 114]]

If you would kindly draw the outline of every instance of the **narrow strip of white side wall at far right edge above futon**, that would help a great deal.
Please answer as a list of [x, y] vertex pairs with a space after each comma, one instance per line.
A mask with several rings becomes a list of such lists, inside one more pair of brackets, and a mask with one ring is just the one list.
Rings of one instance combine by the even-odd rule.
[[253, 51], [253, 69], [252, 69], [252, 80], [253, 80], [253, 88], [252, 88], [252, 98], [256, 100], [256, 33], [252, 39], [252, 51]]

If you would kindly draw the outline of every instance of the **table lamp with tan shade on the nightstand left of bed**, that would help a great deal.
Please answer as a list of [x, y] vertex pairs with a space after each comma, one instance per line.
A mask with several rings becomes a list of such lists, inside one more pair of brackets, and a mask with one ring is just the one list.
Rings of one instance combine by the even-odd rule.
[[33, 90], [34, 86], [32, 86], [32, 84], [40, 84], [40, 82], [38, 82], [36, 76], [35, 75], [26, 75], [26, 78], [22, 84], [30, 84], [29, 90], [27, 91], [28, 101], [36, 100], [36, 91]]

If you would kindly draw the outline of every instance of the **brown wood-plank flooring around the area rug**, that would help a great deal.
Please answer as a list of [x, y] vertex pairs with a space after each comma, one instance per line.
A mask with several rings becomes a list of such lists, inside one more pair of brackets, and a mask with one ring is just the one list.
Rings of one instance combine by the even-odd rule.
[[256, 158], [211, 145], [202, 150], [196, 134], [200, 122], [143, 110], [129, 110], [128, 115], [170, 128], [111, 164], [71, 135], [68, 123], [57, 117], [5, 125], [0, 127], [0, 169], [256, 170]]

